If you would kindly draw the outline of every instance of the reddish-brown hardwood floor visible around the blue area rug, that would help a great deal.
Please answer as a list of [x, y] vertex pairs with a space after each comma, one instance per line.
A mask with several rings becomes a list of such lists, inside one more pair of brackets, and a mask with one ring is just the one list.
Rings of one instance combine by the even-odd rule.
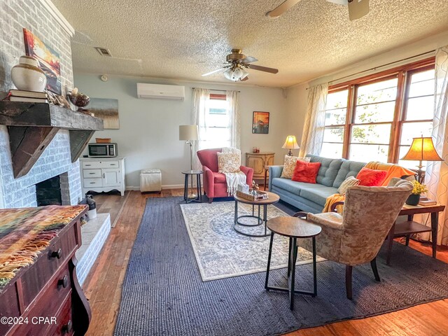
[[[183, 190], [162, 190], [160, 194], [147, 193], [144, 195], [139, 191], [127, 193], [130, 193], [127, 200], [120, 195], [94, 196], [94, 199], [97, 200], [98, 211], [110, 212], [111, 222], [113, 223], [117, 219], [117, 223], [116, 227], [111, 229], [111, 235], [83, 286], [92, 309], [92, 322], [87, 335], [113, 335], [127, 263], [141, 216], [143, 216], [146, 199], [148, 197], [182, 196]], [[123, 211], [120, 212], [124, 202]], [[409, 246], [427, 255], [431, 253], [429, 244], [411, 241]], [[437, 259], [448, 262], [447, 248], [437, 249]], [[448, 335], [447, 311], [448, 300], [440, 300], [370, 318], [298, 330], [288, 335], [442, 336]]]

